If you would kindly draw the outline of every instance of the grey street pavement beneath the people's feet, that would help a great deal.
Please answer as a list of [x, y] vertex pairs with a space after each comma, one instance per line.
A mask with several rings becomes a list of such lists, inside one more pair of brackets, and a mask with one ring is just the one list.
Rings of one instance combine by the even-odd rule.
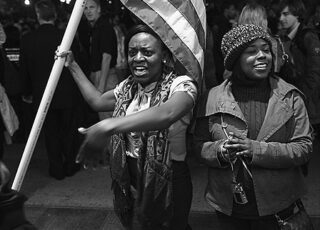
[[[25, 144], [5, 146], [4, 162], [12, 173], [17, 171]], [[314, 145], [307, 183], [309, 193], [303, 197], [307, 212], [320, 230], [320, 144]], [[190, 225], [193, 230], [219, 229], [214, 210], [204, 200], [207, 168], [190, 158], [193, 202]], [[35, 147], [21, 192], [27, 219], [41, 230], [122, 230], [112, 207], [111, 181], [108, 168], [81, 170], [58, 181], [48, 176], [48, 163], [43, 138]]]

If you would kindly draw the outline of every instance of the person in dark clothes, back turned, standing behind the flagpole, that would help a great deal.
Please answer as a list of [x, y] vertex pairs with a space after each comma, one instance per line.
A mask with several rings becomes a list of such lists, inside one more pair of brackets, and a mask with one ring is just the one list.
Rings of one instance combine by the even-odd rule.
[[[40, 104], [54, 56], [63, 31], [55, 27], [56, 11], [52, 2], [35, 4], [39, 28], [22, 37], [20, 73], [24, 79], [24, 95], [32, 96], [36, 111]], [[49, 175], [61, 180], [73, 175], [78, 146], [78, 117], [80, 92], [67, 70], [63, 70], [44, 122], [45, 144], [49, 159]]]

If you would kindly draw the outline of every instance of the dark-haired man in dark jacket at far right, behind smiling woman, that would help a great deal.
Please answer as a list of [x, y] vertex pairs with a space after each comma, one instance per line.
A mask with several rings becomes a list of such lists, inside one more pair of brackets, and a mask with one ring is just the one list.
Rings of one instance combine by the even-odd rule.
[[304, 93], [311, 124], [319, 135], [320, 40], [314, 30], [304, 25], [306, 10], [301, 0], [284, 0], [280, 10], [280, 23], [286, 32], [283, 43], [289, 55], [288, 65], [280, 74]]

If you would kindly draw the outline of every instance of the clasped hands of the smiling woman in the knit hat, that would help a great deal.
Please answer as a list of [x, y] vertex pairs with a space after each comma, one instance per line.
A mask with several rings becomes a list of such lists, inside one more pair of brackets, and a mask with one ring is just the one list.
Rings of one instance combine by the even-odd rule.
[[252, 158], [252, 140], [233, 132], [229, 133], [229, 138], [222, 143], [221, 154], [223, 159], [234, 161], [237, 157]]

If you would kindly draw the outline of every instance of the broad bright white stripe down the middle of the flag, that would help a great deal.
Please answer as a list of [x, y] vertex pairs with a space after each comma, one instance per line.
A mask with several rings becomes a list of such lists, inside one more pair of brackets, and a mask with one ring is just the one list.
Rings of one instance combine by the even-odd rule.
[[168, 1], [143, 0], [171, 27], [178, 37], [194, 54], [200, 66], [203, 66], [203, 49], [200, 46], [198, 36], [189, 22]]

